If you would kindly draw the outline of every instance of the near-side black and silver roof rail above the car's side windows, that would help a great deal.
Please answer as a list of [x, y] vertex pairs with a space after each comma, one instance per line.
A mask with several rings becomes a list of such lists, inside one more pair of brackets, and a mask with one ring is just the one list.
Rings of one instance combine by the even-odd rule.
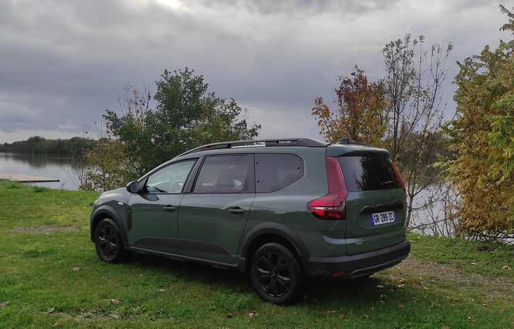
[[208, 150], [218, 149], [232, 149], [234, 147], [251, 147], [251, 146], [307, 146], [307, 147], [324, 147], [329, 143], [322, 142], [320, 140], [314, 140], [313, 138], [281, 138], [281, 139], [268, 139], [268, 140], [235, 140], [231, 142], [217, 142], [198, 146], [189, 151], [185, 151], [175, 158], [190, 153], [196, 153]]

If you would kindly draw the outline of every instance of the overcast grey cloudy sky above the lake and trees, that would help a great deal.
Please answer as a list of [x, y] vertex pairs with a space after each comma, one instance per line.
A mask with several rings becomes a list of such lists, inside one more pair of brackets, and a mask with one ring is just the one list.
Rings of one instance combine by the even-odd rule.
[[[504, 3], [508, 5], [508, 3]], [[405, 33], [455, 46], [455, 62], [509, 33], [492, 0], [0, 0], [0, 142], [71, 137], [116, 110], [122, 85], [190, 67], [249, 108], [260, 137], [319, 137], [315, 96], [359, 65], [383, 76], [381, 50]]]

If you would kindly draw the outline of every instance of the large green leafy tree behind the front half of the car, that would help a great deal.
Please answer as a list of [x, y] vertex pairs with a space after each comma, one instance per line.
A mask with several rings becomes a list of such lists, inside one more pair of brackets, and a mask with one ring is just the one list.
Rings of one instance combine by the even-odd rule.
[[[153, 97], [154, 109], [148, 90], [141, 93], [126, 85], [123, 91], [119, 112], [106, 110], [103, 115], [107, 130], [101, 135], [104, 142], [86, 159], [92, 170], [104, 168], [101, 173], [90, 174], [94, 181], [86, 179], [87, 188], [122, 185], [195, 146], [251, 140], [260, 129], [258, 124], [247, 123], [244, 118], [247, 110], [234, 99], [226, 101], [208, 92], [204, 76], [195, 75], [187, 67], [173, 72], [165, 70], [160, 75]], [[119, 158], [117, 165], [111, 152]]]

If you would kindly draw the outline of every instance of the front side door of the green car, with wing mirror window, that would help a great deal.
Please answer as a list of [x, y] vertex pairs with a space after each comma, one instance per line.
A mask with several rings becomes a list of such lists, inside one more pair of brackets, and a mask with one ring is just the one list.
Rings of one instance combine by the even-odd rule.
[[167, 165], [146, 179], [144, 192], [128, 200], [128, 244], [165, 253], [177, 253], [177, 220], [183, 185], [197, 160]]

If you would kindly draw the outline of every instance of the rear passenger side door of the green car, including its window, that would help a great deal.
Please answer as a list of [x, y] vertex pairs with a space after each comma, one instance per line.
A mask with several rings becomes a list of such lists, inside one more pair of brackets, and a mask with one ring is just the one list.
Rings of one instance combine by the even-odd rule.
[[255, 197], [254, 155], [208, 155], [179, 214], [181, 253], [235, 263]]

